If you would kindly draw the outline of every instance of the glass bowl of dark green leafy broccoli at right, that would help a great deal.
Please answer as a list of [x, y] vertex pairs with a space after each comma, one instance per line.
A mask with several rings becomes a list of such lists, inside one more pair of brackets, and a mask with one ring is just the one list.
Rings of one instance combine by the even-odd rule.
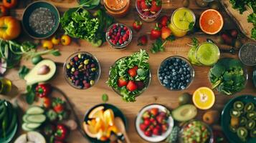
[[209, 70], [209, 82], [212, 89], [226, 95], [232, 95], [245, 89], [247, 69], [238, 59], [222, 58]]

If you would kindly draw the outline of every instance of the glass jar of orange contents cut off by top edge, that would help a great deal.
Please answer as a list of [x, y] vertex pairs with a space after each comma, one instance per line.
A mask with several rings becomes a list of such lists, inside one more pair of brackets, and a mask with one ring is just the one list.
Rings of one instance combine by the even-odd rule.
[[123, 17], [128, 14], [130, 2], [130, 0], [104, 0], [104, 6], [111, 16]]

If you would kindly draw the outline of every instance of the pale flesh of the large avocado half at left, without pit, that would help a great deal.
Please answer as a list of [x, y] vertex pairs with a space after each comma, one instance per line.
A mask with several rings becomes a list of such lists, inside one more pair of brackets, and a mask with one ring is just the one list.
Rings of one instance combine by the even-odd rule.
[[[49, 71], [46, 74], [38, 74], [38, 71], [42, 66], [48, 66]], [[54, 61], [49, 59], [44, 59], [40, 61], [34, 68], [29, 71], [29, 74], [27, 74], [24, 79], [27, 81], [27, 85], [36, 84], [38, 82], [45, 82], [49, 79], [51, 79], [56, 71], [56, 64]]]

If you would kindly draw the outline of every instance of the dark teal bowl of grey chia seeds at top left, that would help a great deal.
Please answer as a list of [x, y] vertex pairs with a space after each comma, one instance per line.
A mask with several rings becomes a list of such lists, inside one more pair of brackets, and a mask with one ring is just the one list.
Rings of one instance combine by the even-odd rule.
[[52, 36], [59, 24], [59, 11], [47, 1], [35, 1], [29, 4], [22, 15], [24, 30], [34, 39], [46, 39]]

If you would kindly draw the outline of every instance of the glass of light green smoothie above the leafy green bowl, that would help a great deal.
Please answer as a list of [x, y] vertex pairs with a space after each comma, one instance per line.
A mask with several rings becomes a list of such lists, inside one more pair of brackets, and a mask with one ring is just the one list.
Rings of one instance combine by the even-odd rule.
[[195, 56], [199, 64], [212, 66], [219, 59], [219, 47], [212, 42], [206, 41], [196, 48]]

